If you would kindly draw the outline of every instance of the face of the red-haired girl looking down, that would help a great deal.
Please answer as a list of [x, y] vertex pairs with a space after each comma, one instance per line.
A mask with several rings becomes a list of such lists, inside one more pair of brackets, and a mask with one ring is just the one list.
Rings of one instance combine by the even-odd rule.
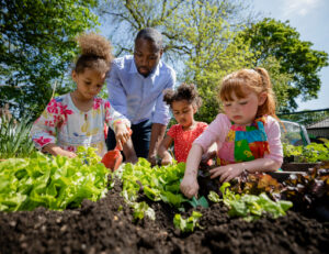
[[238, 125], [249, 125], [253, 122], [258, 107], [264, 103], [265, 93], [258, 96], [254, 91], [245, 89], [245, 98], [238, 98], [232, 92], [232, 101], [223, 101], [224, 111], [230, 121]]

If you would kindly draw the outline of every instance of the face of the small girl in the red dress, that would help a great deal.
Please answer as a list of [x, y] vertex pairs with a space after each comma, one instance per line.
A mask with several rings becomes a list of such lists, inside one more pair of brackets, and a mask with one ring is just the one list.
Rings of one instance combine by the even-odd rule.
[[183, 129], [188, 129], [193, 124], [196, 109], [189, 103], [189, 101], [173, 101], [171, 103], [171, 110], [175, 121], [181, 124]]

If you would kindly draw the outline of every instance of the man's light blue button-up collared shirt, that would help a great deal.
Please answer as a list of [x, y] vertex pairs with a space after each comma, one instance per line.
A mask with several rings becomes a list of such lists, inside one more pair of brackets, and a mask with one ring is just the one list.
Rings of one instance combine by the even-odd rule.
[[114, 59], [107, 78], [111, 106], [133, 124], [150, 120], [167, 125], [170, 119], [169, 107], [163, 101], [163, 90], [173, 89], [175, 71], [159, 62], [147, 76], [136, 68], [134, 56]]

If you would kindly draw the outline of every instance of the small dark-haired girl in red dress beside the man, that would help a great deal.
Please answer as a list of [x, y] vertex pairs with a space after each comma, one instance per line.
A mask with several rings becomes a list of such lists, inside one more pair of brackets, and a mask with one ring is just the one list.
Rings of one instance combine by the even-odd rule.
[[174, 124], [167, 132], [162, 140], [158, 155], [161, 164], [172, 163], [168, 148], [174, 143], [174, 156], [178, 163], [186, 162], [193, 141], [207, 128], [205, 122], [196, 122], [194, 113], [202, 104], [195, 86], [182, 84], [177, 90], [166, 90], [163, 100], [170, 106], [178, 124]]

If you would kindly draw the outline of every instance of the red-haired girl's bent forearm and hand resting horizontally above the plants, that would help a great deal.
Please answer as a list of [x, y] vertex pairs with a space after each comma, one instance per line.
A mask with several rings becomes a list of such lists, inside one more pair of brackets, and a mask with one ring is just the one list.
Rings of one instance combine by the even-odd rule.
[[257, 158], [251, 162], [229, 164], [222, 167], [216, 167], [209, 170], [211, 178], [220, 177], [222, 183], [229, 181], [232, 178], [242, 174], [243, 170], [249, 173], [256, 172], [274, 172], [281, 167], [281, 163], [272, 158]]

